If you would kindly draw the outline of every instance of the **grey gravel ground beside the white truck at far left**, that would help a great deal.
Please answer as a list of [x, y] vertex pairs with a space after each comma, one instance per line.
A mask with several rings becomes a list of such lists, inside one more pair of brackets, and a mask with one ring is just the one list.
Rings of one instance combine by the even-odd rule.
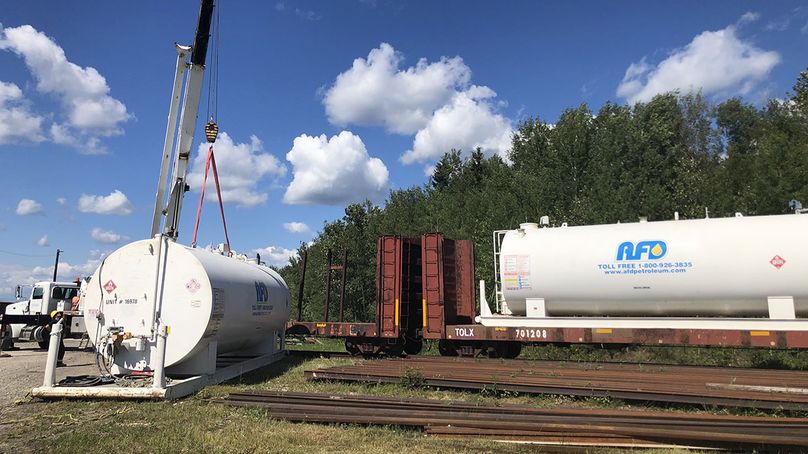
[[[78, 339], [65, 340], [67, 367], [56, 369], [56, 380], [68, 375], [98, 375], [95, 354], [78, 350]], [[47, 350], [36, 342], [18, 342], [14, 350], [0, 353], [0, 412], [15, 401], [24, 399], [31, 388], [42, 385]]]

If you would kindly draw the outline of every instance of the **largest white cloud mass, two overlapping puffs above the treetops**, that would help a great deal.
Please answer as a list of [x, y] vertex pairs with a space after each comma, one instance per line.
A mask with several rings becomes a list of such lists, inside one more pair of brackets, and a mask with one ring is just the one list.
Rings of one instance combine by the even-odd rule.
[[329, 121], [415, 134], [412, 149], [401, 156], [404, 164], [434, 161], [453, 148], [506, 155], [513, 122], [498, 112], [505, 103], [494, 102], [494, 90], [471, 85], [462, 58], [421, 58], [406, 68], [403, 60], [387, 43], [355, 59], [325, 92]]

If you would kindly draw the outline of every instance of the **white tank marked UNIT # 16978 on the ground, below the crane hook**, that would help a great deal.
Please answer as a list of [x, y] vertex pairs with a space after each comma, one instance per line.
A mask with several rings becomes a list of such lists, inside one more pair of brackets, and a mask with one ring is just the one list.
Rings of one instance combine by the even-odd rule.
[[[158, 272], [160, 256], [165, 266]], [[83, 295], [87, 332], [100, 349], [110, 328], [120, 328], [119, 372], [153, 368], [158, 318], [169, 328], [165, 366], [180, 370], [211, 345], [215, 356], [272, 342], [289, 318], [289, 289], [272, 269], [165, 239], [162, 247], [160, 239], [123, 246], [90, 282]]]

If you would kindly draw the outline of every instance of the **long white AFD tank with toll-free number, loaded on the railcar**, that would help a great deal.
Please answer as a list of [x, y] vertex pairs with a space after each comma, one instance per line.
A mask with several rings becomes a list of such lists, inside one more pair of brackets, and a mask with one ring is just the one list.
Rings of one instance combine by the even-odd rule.
[[808, 216], [750, 216], [508, 231], [508, 309], [547, 316], [768, 316], [793, 297], [808, 316]]

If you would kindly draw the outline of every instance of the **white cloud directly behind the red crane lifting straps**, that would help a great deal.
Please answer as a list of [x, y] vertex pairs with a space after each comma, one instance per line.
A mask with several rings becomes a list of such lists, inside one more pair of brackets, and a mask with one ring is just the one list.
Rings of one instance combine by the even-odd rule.
[[[188, 184], [195, 192], [202, 189], [205, 173], [205, 161], [209, 144], [199, 144], [196, 156], [188, 174]], [[274, 183], [286, 174], [286, 166], [275, 156], [264, 153], [261, 140], [250, 137], [249, 143], [236, 143], [223, 132], [213, 145], [216, 168], [219, 171], [219, 183], [222, 200], [233, 202], [241, 207], [253, 207], [266, 202], [268, 194], [261, 190], [259, 183], [265, 183], [265, 177]], [[205, 199], [216, 200], [216, 186], [213, 181], [213, 169], [208, 171]]]

